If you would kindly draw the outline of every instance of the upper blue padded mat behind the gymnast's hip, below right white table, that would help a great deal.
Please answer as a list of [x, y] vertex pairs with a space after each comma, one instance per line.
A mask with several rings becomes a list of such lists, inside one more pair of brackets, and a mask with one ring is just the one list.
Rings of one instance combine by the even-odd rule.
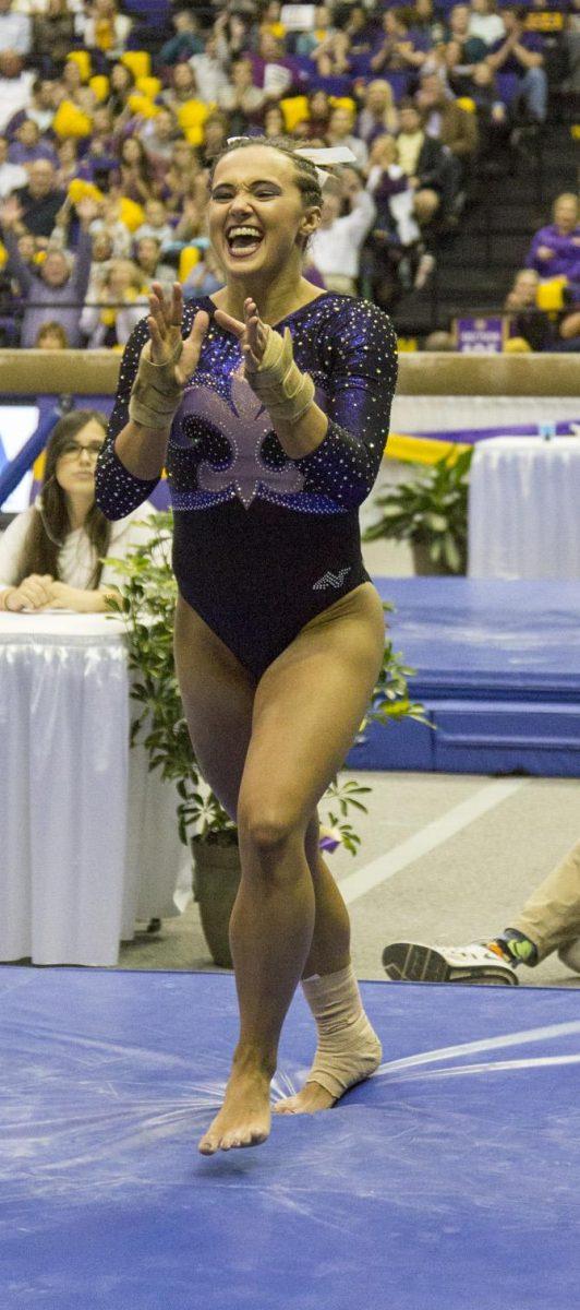
[[373, 578], [420, 686], [580, 692], [580, 582]]

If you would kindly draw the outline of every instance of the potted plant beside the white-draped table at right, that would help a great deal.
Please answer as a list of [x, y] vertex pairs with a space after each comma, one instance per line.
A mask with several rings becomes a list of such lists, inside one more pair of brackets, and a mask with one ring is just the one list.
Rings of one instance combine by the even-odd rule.
[[415, 572], [462, 574], [467, 566], [467, 491], [473, 448], [445, 455], [408, 482], [377, 495], [381, 517], [365, 541], [410, 541]]

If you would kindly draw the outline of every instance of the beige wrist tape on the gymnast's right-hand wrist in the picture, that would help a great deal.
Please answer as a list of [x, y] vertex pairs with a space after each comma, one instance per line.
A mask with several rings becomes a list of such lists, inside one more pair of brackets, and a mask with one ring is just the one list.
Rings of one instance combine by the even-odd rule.
[[274, 422], [297, 423], [314, 400], [314, 383], [295, 363], [289, 329], [285, 328], [281, 337], [266, 325], [266, 350], [258, 368], [246, 362], [246, 380]]

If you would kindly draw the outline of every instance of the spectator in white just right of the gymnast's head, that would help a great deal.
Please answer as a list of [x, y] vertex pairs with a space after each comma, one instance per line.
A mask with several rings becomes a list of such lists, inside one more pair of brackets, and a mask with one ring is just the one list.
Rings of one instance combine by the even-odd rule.
[[310, 238], [309, 255], [329, 291], [356, 296], [360, 252], [376, 212], [355, 169], [343, 169], [338, 183], [326, 183], [322, 221]]

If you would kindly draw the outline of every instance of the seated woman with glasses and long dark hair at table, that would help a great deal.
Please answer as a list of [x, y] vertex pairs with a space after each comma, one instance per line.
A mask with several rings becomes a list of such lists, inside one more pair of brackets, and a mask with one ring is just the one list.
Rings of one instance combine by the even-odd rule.
[[119, 595], [105, 555], [123, 558], [154, 536], [140, 524], [154, 512], [145, 502], [115, 523], [94, 503], [94, 469], [106, 418], [73, 410], [59, 419], [46, 447], [42, 494], [0, 536], [0, 609], [106, 610]]

